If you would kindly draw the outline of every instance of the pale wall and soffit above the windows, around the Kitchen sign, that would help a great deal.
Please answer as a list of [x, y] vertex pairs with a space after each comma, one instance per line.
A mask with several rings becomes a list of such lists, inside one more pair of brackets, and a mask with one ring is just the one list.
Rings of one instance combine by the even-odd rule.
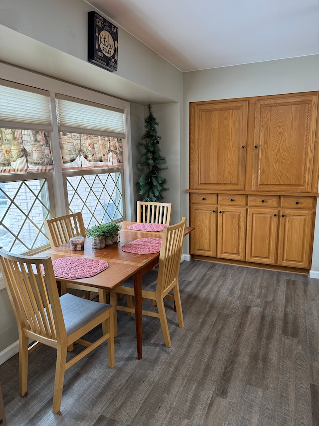
[[1, 0], [0, 60], [136, 103], [181, 101], [182, 73], [122, 28], [118, 71], [88, 63], [91, 10], [82, 0]]

